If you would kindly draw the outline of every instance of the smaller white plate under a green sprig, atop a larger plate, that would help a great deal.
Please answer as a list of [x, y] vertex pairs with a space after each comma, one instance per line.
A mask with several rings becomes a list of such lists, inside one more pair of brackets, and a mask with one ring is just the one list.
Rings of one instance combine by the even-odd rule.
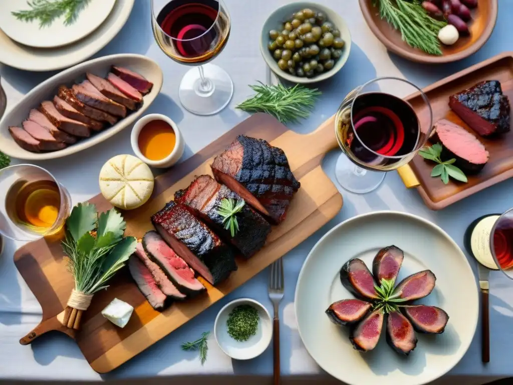
[[98, 28], [109, 16], [116, 0], [89, 0], [76, 15], [76, 20], [66, 26], [64, 15], [49, 26], [41, 27], [38, 20], [24, 22], [12, 12], [30, 10], [26, 0], [0, 2], [0, 29], [15, 42], [36, 48], [54, 48], [74, 43]]

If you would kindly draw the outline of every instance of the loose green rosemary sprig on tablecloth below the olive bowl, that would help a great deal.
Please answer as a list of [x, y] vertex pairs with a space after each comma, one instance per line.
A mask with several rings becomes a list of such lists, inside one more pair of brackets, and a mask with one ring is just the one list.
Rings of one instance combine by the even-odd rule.
[[[260, 83], [260, 82], [259, 82]], [[249, 86], [255, 92], [252, 98], [242, 102], [237, 108], [246, 112], [265, 112], [282, 123], [297, 122], [298, 118], [308, 118], [321, 91], [302, 85], [285, 87], [260, 85]]]

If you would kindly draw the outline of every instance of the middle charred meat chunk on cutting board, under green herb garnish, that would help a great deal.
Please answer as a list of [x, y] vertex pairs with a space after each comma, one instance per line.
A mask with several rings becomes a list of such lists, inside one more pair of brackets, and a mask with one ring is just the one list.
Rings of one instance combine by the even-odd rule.
[[218, 213], [224, 199], [242, 200], [235, 192], [208, 175], [196, 178], [185, 190], [176, 191], [174, 194], [175, 202], [190, 208], [192, 213], [204, 220], [216, 234], [235, 246], [244, 257], [249, 258], [264, 246], [271, 225], [246, 204], [235, 214], [239, 230], [232, 237], [230, 230], [225, 228], [223, 217]]

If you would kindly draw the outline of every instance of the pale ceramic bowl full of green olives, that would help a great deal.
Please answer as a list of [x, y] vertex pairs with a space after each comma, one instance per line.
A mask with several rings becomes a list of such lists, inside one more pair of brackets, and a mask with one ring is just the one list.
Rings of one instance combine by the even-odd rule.
[[295, 2], [274, 11], [264, 24], [260, 50], [271, 70], [290, 82], [326, 80], [346, 63], [351, 34], [336, 12]]

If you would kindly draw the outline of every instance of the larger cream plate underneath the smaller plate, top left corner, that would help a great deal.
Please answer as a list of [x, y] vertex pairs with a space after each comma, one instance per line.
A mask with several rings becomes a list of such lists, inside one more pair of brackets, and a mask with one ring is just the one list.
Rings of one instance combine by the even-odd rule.
[[81, 63], [105, 47], [121, 30], [128, 20], [134, 1], [116, 0], [112, 11], [100, 27], [65, 47], [28, 47], [14, 42], [0, 30], [0, 62], [27, 71], [53, 71]]

